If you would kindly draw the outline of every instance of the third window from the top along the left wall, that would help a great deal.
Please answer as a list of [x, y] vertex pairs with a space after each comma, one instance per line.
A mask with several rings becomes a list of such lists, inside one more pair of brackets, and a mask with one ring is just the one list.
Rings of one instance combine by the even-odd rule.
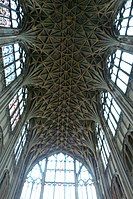
[[15, 128], [18, 123], [20, 116], [24, 111], [24, 107], [27, 99], [27, 89], [20, 88], [17, 94], [13, 97], [13, 99], [9, 103], [9, 114], [10, 114], [10, 122], [12, 130]]

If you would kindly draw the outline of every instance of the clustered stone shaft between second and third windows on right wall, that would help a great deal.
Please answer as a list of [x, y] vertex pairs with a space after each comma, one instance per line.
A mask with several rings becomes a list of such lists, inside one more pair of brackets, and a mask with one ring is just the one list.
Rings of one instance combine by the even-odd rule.
[[128, 118], [129, 122], [133, 124], [133, 105], [130, 103], [124, 93], [118, 88], [118, 86], [112, 82], [112, 80], [109, 81], [109, 84], [113, 88], [113, 91], [110, 91], [110, 93], [121, 108], [122, 112]]

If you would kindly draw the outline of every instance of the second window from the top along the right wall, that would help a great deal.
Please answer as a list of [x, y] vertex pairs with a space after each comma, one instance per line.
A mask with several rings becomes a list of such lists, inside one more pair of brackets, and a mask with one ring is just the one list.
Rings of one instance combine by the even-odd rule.
[[107, 65], [111, 80], [125, 93], [131, 80], [133, 55], [116, 50], [110, 55]]

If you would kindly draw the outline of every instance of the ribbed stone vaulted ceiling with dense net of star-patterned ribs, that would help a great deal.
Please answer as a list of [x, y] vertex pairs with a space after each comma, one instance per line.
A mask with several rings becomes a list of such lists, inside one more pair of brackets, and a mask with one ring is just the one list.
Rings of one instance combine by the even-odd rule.
[[[113, 46], [118, 0], [27, 0], [21, 38], [28, 44], [24, 85], [34, 122], [31, 152], [95, 151], [99, 90]], [[27, 66], [26, 66], [27, 67]], [[34, 144], [33, 144], [34, 143]], [[41, 153], [40, 152], [40, 153]]]

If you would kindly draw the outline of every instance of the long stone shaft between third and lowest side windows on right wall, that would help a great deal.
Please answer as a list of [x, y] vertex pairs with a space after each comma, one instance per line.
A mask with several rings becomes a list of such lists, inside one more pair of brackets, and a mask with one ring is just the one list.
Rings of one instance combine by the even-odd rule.
[[114, 162], [115, 167], [117, 168], [117, 172], [119, 174], [119, 177], [121, 179], [121, 183], [124, 189], [124, 192], [127, 196], [127, 198], [133, 198], [133, 190], [132, 190], [132, 186], [131, 183], [129, 181], [129, 178], [125, 172], [125, 168], [123, 166], [123, 161], [119, 155], [119, 150], [116, 146], [116, 144], [113, 141], [113, 135], [109, 129], [109, 127], [107, 126], [104, 117], [100, 117], [101, 118], [101, 126], [105, 132], [109, 147], [112, 149], [111, 153], [112, 153], [112, 161]]

